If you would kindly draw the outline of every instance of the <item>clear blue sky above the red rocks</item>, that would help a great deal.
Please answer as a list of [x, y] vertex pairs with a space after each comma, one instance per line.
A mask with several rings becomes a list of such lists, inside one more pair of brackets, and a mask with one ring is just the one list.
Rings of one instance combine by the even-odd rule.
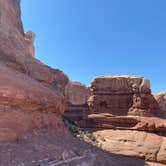
[[143, 75], [166, 91], [165, 0], [22, 0], [36, 57], [89, 85], [97, 75]]

